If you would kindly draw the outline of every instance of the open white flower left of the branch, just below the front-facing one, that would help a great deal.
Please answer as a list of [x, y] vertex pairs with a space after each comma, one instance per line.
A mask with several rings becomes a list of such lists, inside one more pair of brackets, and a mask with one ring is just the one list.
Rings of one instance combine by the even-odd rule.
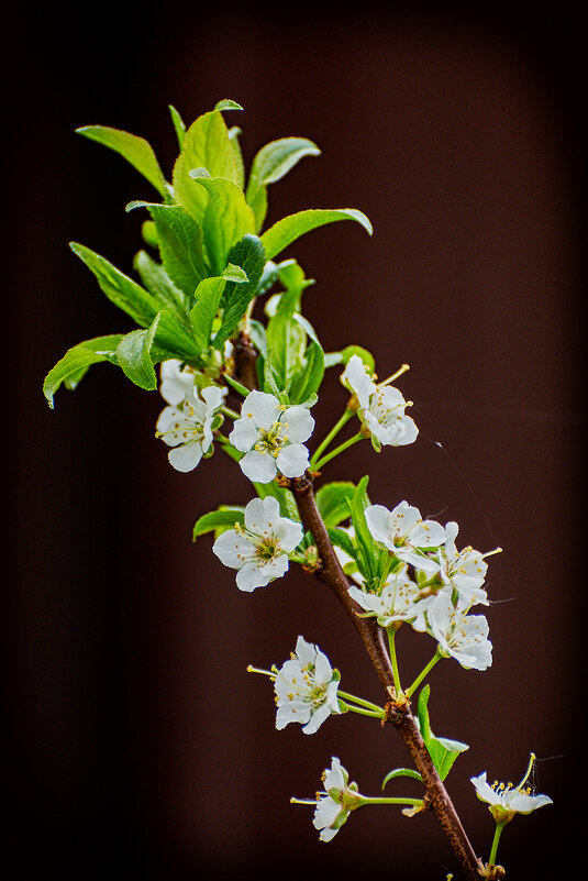
[[244, 526], [222, 532], [212, 550], [225, 566], [237, 569], [241, 591], [265, 587], [288, 570], [288, 554], [301, 542], [300, 524], [280, 517], [274, 496], [254, 498], [245, 507]]

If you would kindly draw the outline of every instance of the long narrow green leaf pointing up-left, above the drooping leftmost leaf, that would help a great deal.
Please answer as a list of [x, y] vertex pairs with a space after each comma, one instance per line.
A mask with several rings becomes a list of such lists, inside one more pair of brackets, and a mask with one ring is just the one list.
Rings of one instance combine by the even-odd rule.
[[[89, 247], [76, 242], [71, 242], [70, 247], [91, 269], [103, 293], [119, 309], [130, 315], [140, 327], [151, 327], [160, 311], [160, 305], [155, 297]], [[155, 341], [168, 357], [188, 361], [199, 357], [195, 341], [168, 310], [162, 311]]]

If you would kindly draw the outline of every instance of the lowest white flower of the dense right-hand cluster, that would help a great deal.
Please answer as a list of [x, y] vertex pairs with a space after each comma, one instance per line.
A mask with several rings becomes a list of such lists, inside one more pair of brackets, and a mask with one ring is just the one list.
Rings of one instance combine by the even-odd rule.
[[469, 606], [452, 602], [443, 588], [426, 609], [428, 630], [439, 642], [439, 652], [455, 658], [467, 670], [487, 670], [492, 663], [492, 643], [484, 615], [468, 615]]

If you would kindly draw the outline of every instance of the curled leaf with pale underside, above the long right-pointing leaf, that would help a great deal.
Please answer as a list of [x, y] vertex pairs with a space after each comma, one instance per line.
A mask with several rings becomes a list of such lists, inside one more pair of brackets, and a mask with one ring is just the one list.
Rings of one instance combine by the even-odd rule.
[[254, 156], [247, 183], [247, 202], [260, 230], [267, 213], [267, 187], [286, 175], [303, 156], [318, 156], [320, 150], [307, 137], [281, 137], [270, 141]]

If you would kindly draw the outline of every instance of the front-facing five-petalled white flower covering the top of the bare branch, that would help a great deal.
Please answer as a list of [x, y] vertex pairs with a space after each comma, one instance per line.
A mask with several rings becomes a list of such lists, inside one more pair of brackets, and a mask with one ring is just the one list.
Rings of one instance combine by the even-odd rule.
[[279, 471], [286, 477], [300, 477], [309, 466], [303, 445], [312, 434], [314, 419], [306, 407], [280, 405], [274, 395], [249, 392], [235, 420], [229, 440], [245, 453], [241, 470], [249, 481], [269, 483]]

